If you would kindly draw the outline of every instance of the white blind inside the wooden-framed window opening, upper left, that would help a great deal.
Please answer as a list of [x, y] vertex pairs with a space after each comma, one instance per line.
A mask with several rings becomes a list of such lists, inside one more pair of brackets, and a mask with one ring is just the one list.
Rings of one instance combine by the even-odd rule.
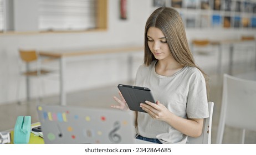
[[39, 30], [86, 30], [96, 27], [94, 0], [39, 0]]

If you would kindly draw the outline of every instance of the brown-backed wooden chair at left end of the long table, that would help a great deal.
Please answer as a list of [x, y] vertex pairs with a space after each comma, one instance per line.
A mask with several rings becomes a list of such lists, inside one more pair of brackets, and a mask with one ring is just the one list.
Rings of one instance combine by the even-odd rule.
[[[40, 59], [38, 57], [38, 54], [35, 50], [23, 50], [19, 49], [19, 56], [21, 59], [19, 59], [19, 73], [26, 77], [26, 84], [27, 84], [27, 100], [30, 100], [30, 86], [29, 86], [29, 77], [40, 77], [42, 75], [47, 75], [50, 73], [49, 70], [41, 69]], [[22, 68], [22, 62], [25, 63], [25, 70]], [[32, 66], [33, 69], [30, 69]], [[19, 88], [20, 87], [20, 76], [18, 77], [18, 85], [17, 85], [17, 99], [18, 104], [21, 104], [21, 101], [19, 100]], [[43, 89], [42, 86], [38, 86], [38, 88]], [[39, 92], [39, 91], [38, 91]], [[43, 93], [43, 91], [42, 91]]]

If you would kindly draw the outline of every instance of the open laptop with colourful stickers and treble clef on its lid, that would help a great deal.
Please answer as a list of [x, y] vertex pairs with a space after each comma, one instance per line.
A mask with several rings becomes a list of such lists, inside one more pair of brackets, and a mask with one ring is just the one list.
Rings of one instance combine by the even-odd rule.
[[134, 143], [134, 116], [112, 108], [37, 106], [44, 143]]

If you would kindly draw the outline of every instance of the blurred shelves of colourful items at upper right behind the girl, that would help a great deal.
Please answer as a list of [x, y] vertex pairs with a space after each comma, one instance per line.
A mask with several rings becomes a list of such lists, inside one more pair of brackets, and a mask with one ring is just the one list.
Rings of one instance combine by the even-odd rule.
[[256, 29], [256, 0], [152, 0], [180, 12], [187, 29]]

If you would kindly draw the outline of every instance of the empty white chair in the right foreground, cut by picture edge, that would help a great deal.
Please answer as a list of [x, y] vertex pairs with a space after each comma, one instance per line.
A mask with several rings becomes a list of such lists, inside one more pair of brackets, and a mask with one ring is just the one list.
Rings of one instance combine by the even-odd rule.
[[222, 143], [226, 125], [242, 129], [244, 143], [245, 130], [256, 131], [256, 81], [224, 74], [222, 93], [216, 143]]

